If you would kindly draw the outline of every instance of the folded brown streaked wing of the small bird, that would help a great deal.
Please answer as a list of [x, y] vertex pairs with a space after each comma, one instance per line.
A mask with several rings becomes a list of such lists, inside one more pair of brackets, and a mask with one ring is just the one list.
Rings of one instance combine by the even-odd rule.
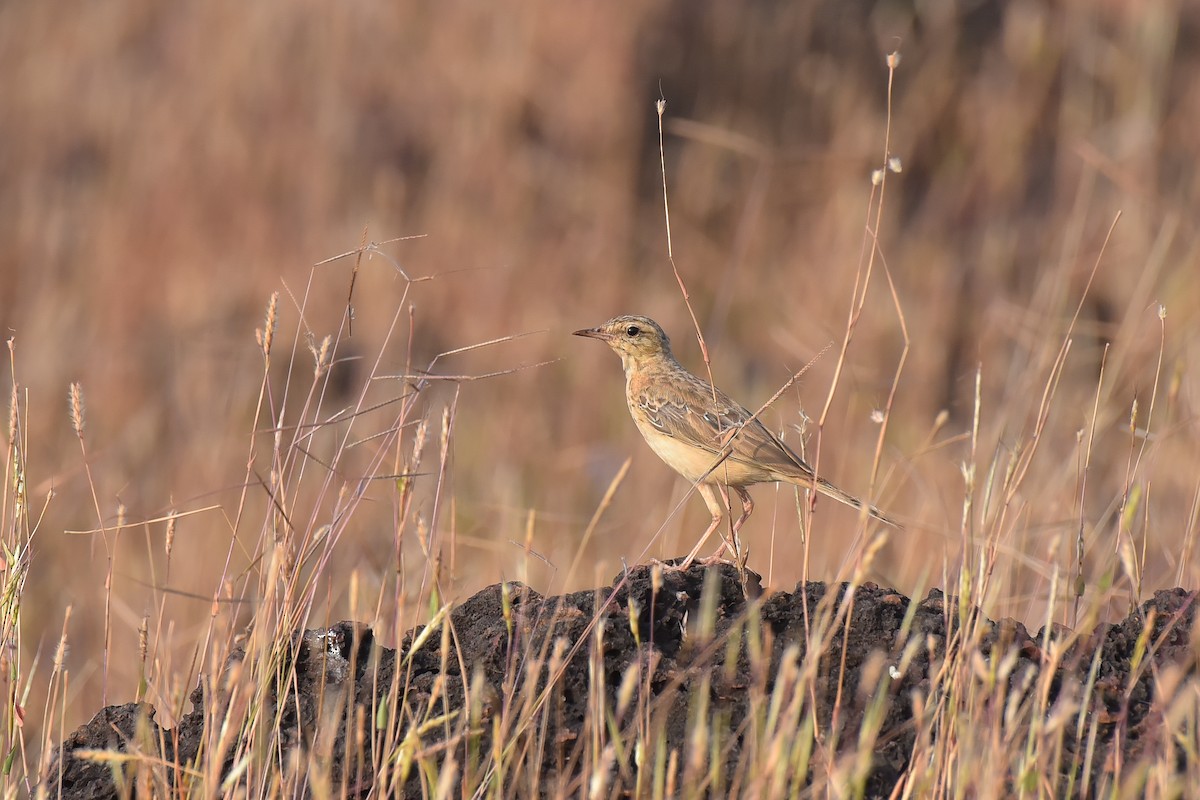
[[638, 392], [637, 403], [655, 428], [714, 457], [732, 447], [728, 459], [792, 477], [812, 477], [812, 470], [791, 447], [754, 415], [691, 374], [686, 379], [653, 381]]

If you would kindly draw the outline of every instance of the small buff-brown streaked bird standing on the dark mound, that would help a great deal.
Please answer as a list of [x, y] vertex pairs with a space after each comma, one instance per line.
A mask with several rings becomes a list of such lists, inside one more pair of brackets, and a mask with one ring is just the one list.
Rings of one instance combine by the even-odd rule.
[[[816, 488], [840, 503], [862, 509], [863, 501], [816, 477], [782, 440], [720, 389], [683, 368], [671, 353], [671, 339], [648, 317], [616, 317], [575, 336], [600, 339], [616, 350], [625, 367], [625, 399], [642, 438], [667, 467], [696, 485], [713, 522], [688, 557], [690, 561], [721, 524], [728, 506], [726, 487], [738, 493], [742, 516], [733, 523], [733, 541], [754, 511], [748, 486], [785, 481]], [[718, 498], [720, 492], [721, 498]], [[721, 504], [721, 500], [725, 504]], [[895, 522], [875, 506], [868, 513], [889, 525]]]

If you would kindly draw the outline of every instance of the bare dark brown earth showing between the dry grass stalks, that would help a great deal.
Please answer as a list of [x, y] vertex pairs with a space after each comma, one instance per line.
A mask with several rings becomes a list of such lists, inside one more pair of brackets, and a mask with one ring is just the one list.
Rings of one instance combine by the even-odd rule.
[[[412, 660], [406, 663], [420, 628], [409, 632], [398, 650], [378, 645], [370, 628], [354, 622], [307, 631], [296, 640], [295, 676], [290, 681], [281, 723], [283, 748], [287, 751], [300, 741], [313, 741], [311, 736], [318, 727], [319, 709], [341, 708], [340, 704], [329, 703], [329, 698], [342, 690], [353, 692], [355, 703], [364, 705], [368, 709], [367, 714], [371, 714], [370, 709], [378, 708], [378, 699], [389, 691], [397, 663], [410, 670], [407, 702], [418, 717], [427, 708], [434, 682], [439, 679], [444, 681], [440, 697], [449, 698], [451, 704], [456, 698], [461, 703], [464, 682], [469, 682], [472, 678], [462, 674], [460, 664], [466, 664], [474, 675], [482, 675], [486, 685], [494, 690], [490, 694], [491, 699], [484, 703], [482, 714], [490, 716], [499, 712], [505, 690], [521, 686], [520, 675], [526, 663], [523, 656], [539, 651], [544, 643], [552, 640], [547, 637], [562, 638], [571, 644], [594, 643], [596, 634], [590, 625], [598, 604], [604, 603], [600, 624], [604, 626], [602, 663], [608, 693], [606, 702], [610, 706], [617, 702], [618, 687], [629, 664], [637, 660], [649, 663], [652, 655], [658, 657], [648, 691], [656, 703], [664, 704], [659, 708], [668, 709], [667, 746], [684, 747], [689, 697], [704, 685], [702, 679], [707, 680], [710, 706], [724, 710], [728, 721], [730, 736], [726, 741], [731, 744], [725, 750], [724, 758], [727, 774], [736, 776], [743, 744], [739, 726], [748, 714], [745, 688], [755, 678], [749, 673], [744, 648], [737, 650], [740, 655], [736, 668], [727, 672], [724, 663], [727, 649], [720, 644], [708, 645], [720, 643], [724, 634], [738, 630], [737, 626], [746, 619], [748, 609], [756, 604], [762, 627], [769, 633], [766, 640], [770, 648], [772, 667], [779, 664], [785, 649], [793, 643], [802, 648], [803, 658], [808, 655], [803, 652], [808, 620], [815, 618], [817, 606], [828, 591], [839, 593], [841, 607], [846, 608], [844, 595], [848, 584], [830, 587], [814, 582], [800, 584], [794, 591], [764, 595], [760, 589], [760, 577], [752, 572], [746, 575], [745, 583], [739, 581], [736, 570], [726, 565], [714, 567], [712, 575], [712, 585], [719, 591], [715, 597], [715, 616], [710, 618], [712, 638], [701, 636], [696, 630], [696, 620], [703, 615], [701, 595], [706, 581], [706, 571], [698, 566], [685, 572], [666, 572], [658, 590], [653, 584], [652, 571], [646, 566], [632, 570], [628, 576], [618, 576], [612, 587], [557, 597], [542, 597], [528, 587], [510, 583], [506, 590], [509, 600], [505, 602], [505, 590], [500, 584], [488, 587], [454, 609], [451, 619], [455, 637], [448, 639], [451, 655], [445, 661], [439, 652], [442, 637], [437, 632], [424, 638], [419, 649], [412, 654]], [[754, 600], [748, 601], [748, 596]], [[636, 609], [637, 636], [629, 619], [631, 599]], [[1159, 712], [1153, 675], [1166, 664], [1177, 664], [1186, 673], [1195, 670], [1196, 651], [1189, 644], [1195, 620], [1195, 591], [1158, 591], [1123, 621], [1100, 625], [1091, 636], [1079, 639], [1068, 650], [1068, 655], [1056, 662], [1052, 681], [1055, 694], [1069, 684], [1084, 684], [1097, 652], [1099, 654], [1096, 687], [1091, 694], [1092, 702], [1084, 711], [1086, 720], [1082, 728], [1090, 729], [1094, 724], [1098, 734], [1098, 756], [1092, 759], [1093, 787], [1104, 784], [1105, 770], [1115, 756], [1132, 763], [1139, 758], [1154, 757], [1153, 751], [1162, 747], [1162, 738], [1154, 735]], [[876, 651], [882, 651], [884, 663], [896, 663], [906, 644], [901, 638], [901, 626], [912, 602], [893, 590], [874, 584], [853, 590], [853, 602], [848, 604], [848, 625], [834, 626], [836, 633], [826, 654], [832, 654], [832, 657], [826, 657], [816, 681], [814, 699], [820, 726], [827, 732], [827, 738], [836, 706], [836, 724], [846, 732], [838, 741], [845, 742], [846, 747], [857, 744], [857, 732], [871, 697], [870, 692], [846, 691], [846, 687], [860, 685], [863, 670], [872, 662]], [[508, 619], [505, 606], [509, 608]], [[898, 674], [890, 684], [881, 733], [874, 748], [866, 796], [888, 796], [907, 769], [914, 744], [911, 697], [913, 692], [920, 692], [928, 698], [934, 692], [931, 675], [941, 663], [946, 643], [953, 639], [959, 626], [958, 612], [953, 599], [938, 590], [930, 591], [913, 612], [907, 638], [920, 637], [920, 640], [931, 643], [932, 648], [922, 648], [907, 670]], [[1141, 656], [1136, 654], [1136, 643], [1147, 620], [1153, 630], [1148, 638], [1150, 648]], [[992, 658], [1012, 654], [1018, 660], [1016, 668], [1008, 673], [1008, 691], [1024, 691], [1022, 687], [1030, 686], [1026, 681], [1031, 673], [1042, 669], [1050, 661], [1042, 643], [1068, 633], [1066, 628], [1056, 626], [1049, 632], [1043, 630], [1031, 637], [1025, 626], [1016, 621], [979, 621], [985, 631], [980, 650], [990, 652]], [[455, 643], [458, 648], [456, 652]], [[588, 746], [578, 734], [594, 705], [589, 697], [589, 686], [594, 680], [589, 679], [590, 657], [589, 646], [581, 646], [570, 655], [568, 667], [558, 681], [558, 691], [551, 699], [554, 709], [546, 715], [550, 729], [545, 740], [553, 744], [545, 748], [541, 757], [541, 774], [547, 776], [544, 792], [564, 777], [574, 777], [572, 765], [580, 763], [581, 750]], [[874, 656], [874, 662], [878, 663], [877, 655]], [[404, 678], [401, 676], [401, 685], [403, 682]], [[868, 676], [864, 685], [872, 682]], [[646, 688], [643, 685], [638, 691]], [[768, 685], [768, 691], [769, 688]], [[324, 705], [322, 698], [326, 700]], [[194, 710], [175, 729], [158, 728], [154, 722], [155, 709], [145, 704], [130, 703], [103, 709], [62, 742], [44, 776], [48, 787], [53, 788], [58, 783], [65, 798], [118, 796], [110, 768], [76, 758], [73, 753], [79, 748], [122, 751], [132, 748], [132, 741], [158, 741], [163, 742], [162, 756], [168, 763], [188, 763], [198, 752], [203, 733], [203, 706], [206, 699], [200, 688], [193, 692], [192, 702]], [[1054, 697], [1048, 708], [1052, 703]], [[335, 717], [338, 722], [344, 718], [354, 717]], [[139, 723], [148, 726], [149, 738], [146, 727], [142, 732], [136, 730]], [[1075, 729], [1075, 721], [1066, 728]], [[479, 730], [482, 736], [479, 752], [490, 752], [492, 728], [482, 724]], [[422, 738], [422, 745], [428, 748], [436, 744], [439, 733], [439, 727], [434, 726]], [[366, 746], [370, 748], [370, 736], [367, 739]], [[362, 763], [370, 765], [372, 759], [370, 754], [365, 759], [354, 759], [359, 763], [359, 771], [346, 775], [340, 760], [343, 746], [344, 729], [340, 729], [332, 742], [332, 777], [336, 782], [346, 781], [350, 796], [365, 794], [372, 783], [372, 776], [364, 772]], [[1082, 754], [1074, 752], [1075, 742], [1070, 736], [1066, 738], [1064, 747], [1067, 757], [1063, 763], [1068, 765], [1068, 770], [1075, 771], [1075, 786], [1079, 786]], [[228, 766], [229, 764], [226, 765]], [[619, 794], [619, 788], [630, 783], [631, 769], [630, 764], [619, 760], [611, 784], [618, 787]], [[406, 786], [410, 796], [421, 794], [416, 772], [418, 770], [413, 771], [413, 777]], [[1063, 775], [1063, 781], [1068, 777]], [[576, 784], [576, 789], [580, 788]], [[160, 793], [167, 787], [155, 789], [155, 793]]]

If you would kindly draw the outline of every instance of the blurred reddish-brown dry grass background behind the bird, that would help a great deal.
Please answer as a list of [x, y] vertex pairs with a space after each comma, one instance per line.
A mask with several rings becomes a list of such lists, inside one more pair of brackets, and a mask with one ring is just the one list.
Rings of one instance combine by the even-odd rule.
[[[1007, 570], [992, 610], [1043, 621], [1055, 570], [1057, 591], [1069, 588], [1080, 521], [1086, 591], [1112, 583], [1116, 614], [1139, 591], [1196, 585], [1198, 42], [1200, 7], [1170, 1], [5, 4], [0, 323], [28, 401], [30, 503], [44, 505], [23, 603], [23, 646], [41, 654], [29, 696], [44, 697], [71, 607], [62, 727], [98, 706], [109, 554], [104, 698], [133, 694], [146, 615], [160, 643], [151, 679], [196, 668], [222, 576], [236, 583], [257, 569], [246, 546], [224, 571], [262, 381], [253, 331], [270, 293], [287, 287], [280, 336], [290, 344], [299, 313], [288, 293], [299, 297], [310, 266], [355, 247], [364, 228], [373, 240], [424, 234], [385, 249], [409, 276], [437, 277], [409, 289], [412, 336], [406, 309], [384, 344], [406, 282], [384, 259], [362, 264], [354, 335], [340, 351], [360, 360], [340, 363], [334, 383], [343, 404], [380, 349], [380, 372], [400, 373], [409, 348], [420, 365], [544, 331], [438, 371], [559, 359], [462, 386], [452, 500], [436, 521], [452, 534], [446, 579], [462, 595], [500, 578], [540, 591], [610, 579], [685, 487], [629, 421], [617, 360], [568, 333], [644, 313], [673, 335], [684, 363], [703, 366], [666, 258], [654, 101], [667, 101], [676, 261], [716, 383], [756, 408], [841, 341], [870, 174], [883, 157], [893, 50], [902, 62], [892, 151], [904, 170], [888, 179], [880, 236], [912, 349], [878, 501], [910, 525], [892, 537], [878, 579], [913, 591], [941, 585], [959, 563], [979, 368], [977, 480], [995, 463], [998, 485], [1015, 453], [1038, 447], [1002, 525], [989, 528], [996, 501], [985, 513], [982, 491], [972, 510], [971, 533], [994, 536]], [[1055, 356], [1118, 212], [1036, 437]], [[317, 339], [337, 330], [352, 264], [316, 270], [301, 339], [304, 329]], [[871, 413], [902, 345], [877, 272], [821, 447], [822, 474], [852, 492], [870, 481]], [[835, 354], [767, 413], [790, 441], [802, 409], [820, 414]], [[271, 375], [280, 392], [289, 380], [281, 363]], [[308, 369], [301, 359], [298, 385]], [[86, 396], [96, 503], [68, 420], [70, 381]], [[431, 392], [434, 426], [451, 396]], [[1132, 435], [1135, 399], [1144, 433]], [[568, 576], [626, 456], [629, 476], [587, 566]], [[1116, 509], [1129, 486], [1141, 503], [1121, 536], [1139, 558], [1145, 551], [1140, 590], [1116, 566]], [[395, 491], [373, 483], [338, 542], [323, 577], [332, 619], [348, 614], [352, 572], [373, 597], [397, 570], [403, 579], [421, 569], [412, 542], [398, 563], [392, 554]], [[262, 487], [250, 494], [264, 504]], [[743, 533], [750, 567], [790, 585], [803, 549], [794, 500], [773, 487], [755, 498]], [[422, 495], [426, 513], [431, 503]], [[221, 509], [179, 523], [169, 571], [161, 524], [64, 533], [98, 528], [98, 516], [112, 525], [119, 507], [138, 521], [209, 505]], [[684, 553], [706, 522], [689, 499], [650, 555]], [[814, 578], [838, 573], [853, 523], [818, 506]], [[251, 528], [236, 535], [257, 539]], [[510, 543], [527, 534], [548, 564]], [[176, 680], [190, 688], [190, 678]]]

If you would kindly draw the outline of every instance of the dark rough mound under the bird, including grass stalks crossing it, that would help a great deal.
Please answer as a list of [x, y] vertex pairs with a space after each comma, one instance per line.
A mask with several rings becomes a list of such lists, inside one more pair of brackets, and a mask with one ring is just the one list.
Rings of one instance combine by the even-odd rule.
[[[983, 619], [936, 590], [916, 604], [874, 584], [851, 591], [847, 584], [808, 583], [762, 596], [758, 576], [745, 578], [728, 566], [708, 570], [707, 578], [700, 567], [637, 567], [612, 587], [558, 597], [542, 597], [516, 583], [497, 584], [455, 608], [448, 627], [412, 631], [398, 650], [377, 645], [368, 628], [352, 622], [305, 632], [294, 640], [294, 670], [278, 673], [287, 686], [276, 727], [275, 746], [284, 754], [280, 760], [287, 762], [289, 752], [326, 753], [326, 778], [350, 796], [376, 786], [372, 765], [386, 763], [392, 792], [421, 796], [421, 770], [400, 770], [396, 741], [384, 751], [378, 744], [383, 739], [348, 738], [347, 730], [361, 732], [362, 720], [379, 720], [380, 709], [401, 708], [401, 739], [414, 726], [420, 728], [418, 759], [421, 753], [456, 753], [461, 768], [455, 780], [478, 781], [478, 770], [487, 769], [479, 766], [479, 756], [520, 740], [514, 720], [535, 720], [542, 727], [540, 746], [512, 758], [524, 763], [522, 775], [541, 777], [534, 784], [524, 778], [526, 784], [510, 793], [529, 796], [565, 788], [568, 794], [586, 794], [583, 764], [595, 746], [589, 724], [598, 709], [607, 710], [602, 714], [614, 729], [628, 729], [642, 717], [623, 716], [620, 709], [636, 705], [637, 698], [648, 700], [646, 708], [653, 711], [644, 718], [653, 715], [658, 721], [655, 735], [664, 752], [686, 753], [696, 742], [696, 698], [702, 697], [706, 741], [721, 742], [710, 762], [718, 777], [708, 787], [720, 796], [746, 792], [755, 780], [745, 774], [750, 759], [743, 758], [745, 748], [761, 746], [751, 741], [755, 715], [762, 711], [752, 708], [751, 698], [763, 697], [757, 690], [769, 697], [780, 670], [808, 669], [810, 679], [798, 684], [806, 687], [805, 702], [815, 711], [806, 718], [815, 726], [816, 748], [832, 752], [824, 766], [816, 757], [805, 762], [802, 780], [820, 780], [822, 770], [828, 778], [833, 759], [862, 747], [864, 729], [875, 730], [863, 788], [865, 796], [883, 798], [905, 778], [918, 736], [928, 730], [914, 722], [914, 706], [920, 705], [914, 698], [924, 704], [953, 702], [940, 681], [964, 648], [964, 634], [973, 631], [974, 652], [982, 654], [977, 661], [983, 662], [977, 664], [980, 685], [998, 681], [1002, 700], [1021, 700], [1031, 687], [1043, 685], [1049, 697], [1039, 708], [1056, 708], [1060, 693], [1085, 698], [1066, 723], [1058, 720], [1070, 735], [1061, 739], [1057, 794], [1080, 794], [1086, 787], [1110, 786], [1115, 764], [1145, 758], [1162, 763], [1158, 751], [1170, 745], [1163, 744], [1169, 736], [1158, 733], [1157, 681], [1170, 664], [1180, 675], [1196, 668], [1190, 643], [1196, 593], [1182, 589], [1157, 593], [1118, 625], [1100, 626], [1087, 637], [1058, 627], [1031, 637], [1020, 622]], [[822, 643], [817, 661], [810, 652], [815, 642]], [[636, 681], [626, 678], [634, 666], [640, 666]], [[1052, 674], [1042, 684], [1044, 670]], [[544, 691], [547, 686], [551, 691]], [[464, 697], [473, 698], [467, 708]], [[136, 778], [130, 765], [137, 759], [114, 769], [79, 758], [77, 751], [145, 754], [149, 747], [162, 757], [157, 764], [186, 766], [202, 752], [205, 704], [222, 700], [197, 688], [192, 702], [192, 714], [172, 730], [154, 722], [148, 705], [106, 708], [62, 742], [44, 776], [47, 787], [52, 794], [61, 787], [66, 798], [109, 798], [119, 793], [114, 775], [118, 781], [125, 775], [126, 787], [151, 781], [146, 788], [155, 794], [188, 780], [185, 771], [167, 768]], [[522, 704], [532, 714], [518, 714]], [[431, 708], [437, 709], [433, 717]], [[431, 718], [434, 724], [420, 724]], [[346, 758], [348, 740], [354, 742], [352, 758]], [[226, 752], [228, 774], [236, 747]], [[618, 748], [607, 762], [605, 795], [638, 790], [635, 760], [635, 753]]]

